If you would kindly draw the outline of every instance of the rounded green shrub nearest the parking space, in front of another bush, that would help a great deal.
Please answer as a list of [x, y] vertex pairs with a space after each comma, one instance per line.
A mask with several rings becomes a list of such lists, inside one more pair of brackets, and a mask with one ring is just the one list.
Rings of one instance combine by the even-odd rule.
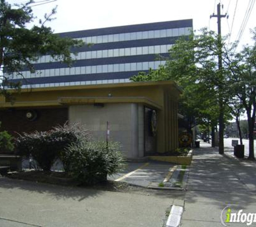
[[69, 174], [83, 185], [94, 185], [107, 180], [123, 168], [124, 159], [119, 144], [89, 142], [72, 144], [66, 149], [64, 159], [70, 161]]

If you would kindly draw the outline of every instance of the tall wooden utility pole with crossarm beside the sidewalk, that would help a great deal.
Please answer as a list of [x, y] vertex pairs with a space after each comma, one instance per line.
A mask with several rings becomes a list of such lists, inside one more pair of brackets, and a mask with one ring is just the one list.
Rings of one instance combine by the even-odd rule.
[[223, 100], [223, 85], [221, 81], [224, 80], [222, 72], [222, 18], [227, 15], [222, 15], [220, 12], [220, 3], [217, 5], [217, 15], [213, 13], [212, 17], [217, 17], [218, 20], [218, 68], [219, 68], [219, 154], [224, 154], [224, 100]]

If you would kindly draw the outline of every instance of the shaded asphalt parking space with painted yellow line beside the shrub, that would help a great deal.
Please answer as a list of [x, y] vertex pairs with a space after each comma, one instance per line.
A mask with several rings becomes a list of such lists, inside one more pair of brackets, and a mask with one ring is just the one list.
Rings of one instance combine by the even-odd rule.
[[152, 182], [163, 182], [174, 166], [169, 162], [158, 161], [128, 162], [126, 169], [108, 179], [148, 187]]

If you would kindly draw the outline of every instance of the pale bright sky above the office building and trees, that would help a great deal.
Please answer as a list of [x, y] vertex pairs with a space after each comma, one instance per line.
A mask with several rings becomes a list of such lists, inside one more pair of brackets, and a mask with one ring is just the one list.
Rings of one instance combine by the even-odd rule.
[[[24, 0], [6, 1], [10, 4], [24, 2]], [[42, 0], [34, 1], [39, 4]], [[33, 6], [32, 9], [34, 15], [42, 18], [44, 13], [50, 12], [58, 5], [56, 19], [48, 24], [56, 33], [180, 19], [193, 19], [194, 30], [208, 27], [217, 32], [217, 18], [210, 19], [210, 15], [217, 14], [217, 4], [221, 3], [222, 14], [229, 15], [229, 18], [222, 18], [222, 34], [231, 33], [230, 42], [233, 42], [238, 38], [248, 6], [255, 0], [51, 1]], [[251, 8], [251, 15], [239, 42], [240, 46], [252, 44], [250, 29], [256, 27], [255, 22], [256, 4]]]

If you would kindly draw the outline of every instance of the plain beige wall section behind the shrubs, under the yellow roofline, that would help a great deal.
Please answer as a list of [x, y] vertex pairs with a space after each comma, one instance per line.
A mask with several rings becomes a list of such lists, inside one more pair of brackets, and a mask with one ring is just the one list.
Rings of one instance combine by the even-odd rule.
[[69, 121], [86, 125], [93, 138], [106, 141], [107, 122], [110, 140], [121, 143], [127, 158], [144, 155], [143, 105], [135, 103], [94, 105], [71, 105]]

